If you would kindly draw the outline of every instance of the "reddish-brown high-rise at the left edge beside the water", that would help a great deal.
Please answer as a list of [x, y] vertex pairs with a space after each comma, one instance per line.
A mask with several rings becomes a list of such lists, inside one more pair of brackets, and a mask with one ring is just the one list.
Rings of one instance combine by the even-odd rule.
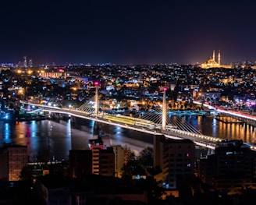
[[0, 149], [0, 179], [19, 181], [20, 172], [27, 166], [27, 146], [6, 145]]

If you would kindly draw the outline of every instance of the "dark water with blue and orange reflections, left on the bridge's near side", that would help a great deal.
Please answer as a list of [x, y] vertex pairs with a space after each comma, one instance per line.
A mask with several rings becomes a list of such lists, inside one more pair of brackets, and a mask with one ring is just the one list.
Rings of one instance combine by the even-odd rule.
[[[3, 143], [27, 145], [30, 161], [36, 161], [37, 154], [44, 150], [51, 151], [51, 160], [67, 159], [69, 150], [88, 149], [88, 140], [98, 138], [98, 131], [94, 130], [94, 121], [89, 120], [80, 120], [75, 125], [70, 120], [0, 121], [0, 129], [1, 146]], [[152, 147], [152, 136], [144, 133], [111, 125], [101, 125], [101, 130], [105, 134], [102, 139], [106, 146], [127, 146], [136, 154], [145, 147]]]

